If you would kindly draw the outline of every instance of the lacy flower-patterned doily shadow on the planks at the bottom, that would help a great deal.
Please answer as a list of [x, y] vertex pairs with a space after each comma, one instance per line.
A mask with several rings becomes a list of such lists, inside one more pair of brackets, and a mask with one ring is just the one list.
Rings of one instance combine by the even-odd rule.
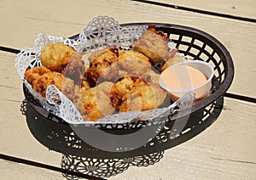
[[[94, 177], [113, 177], [128, 169], [129, 166], [150, 166], [159, 162], [164, 151], [124, 158], [94, 158], [76, 155], [63, 155], [61, 167], [75, 172], [82, 172]], [[63, 174], [67, 179], [79, 179]]]

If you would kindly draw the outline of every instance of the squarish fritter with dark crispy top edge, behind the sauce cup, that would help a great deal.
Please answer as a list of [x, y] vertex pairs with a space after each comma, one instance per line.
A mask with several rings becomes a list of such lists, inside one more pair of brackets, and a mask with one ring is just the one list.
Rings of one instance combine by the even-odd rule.
[[132, 43], [132, 48], [145, 54], [154, 63], [160, 63], [164, 59], [170, 59], [177, 49], [169, 52], [167, 45], [170, 38], [163, 31], [156, 31], [155, 25], [148, 25], [148, 31], [137, 42]]

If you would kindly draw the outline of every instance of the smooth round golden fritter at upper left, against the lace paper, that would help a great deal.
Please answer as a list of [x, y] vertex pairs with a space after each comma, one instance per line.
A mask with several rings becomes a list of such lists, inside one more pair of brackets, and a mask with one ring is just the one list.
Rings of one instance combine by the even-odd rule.
[[61, 72], [76, 50], [63, 42], [49, 43], [40, 54], [42, 65], [49, 70]]

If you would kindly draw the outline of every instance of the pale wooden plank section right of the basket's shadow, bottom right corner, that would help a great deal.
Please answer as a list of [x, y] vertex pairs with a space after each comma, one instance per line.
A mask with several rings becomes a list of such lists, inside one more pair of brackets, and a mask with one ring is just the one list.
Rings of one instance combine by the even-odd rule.
[[131, 166], [113, 179], [254, 179], [256, 125], [250, 116], [255, 109], [255, 104], [225, 98], [224, 110], [207, 130], [166, 150], [154, 166]]

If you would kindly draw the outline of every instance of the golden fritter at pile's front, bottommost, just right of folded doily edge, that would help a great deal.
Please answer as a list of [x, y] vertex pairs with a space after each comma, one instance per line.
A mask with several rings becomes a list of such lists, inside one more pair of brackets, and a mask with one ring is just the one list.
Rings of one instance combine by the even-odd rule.
[[96, 121], [106, 115], [113, 114], [114, 109], [109, 98], [112, 86], [112, 82], [102, 82], [81, 94], [81, 103], [89, 121]]

